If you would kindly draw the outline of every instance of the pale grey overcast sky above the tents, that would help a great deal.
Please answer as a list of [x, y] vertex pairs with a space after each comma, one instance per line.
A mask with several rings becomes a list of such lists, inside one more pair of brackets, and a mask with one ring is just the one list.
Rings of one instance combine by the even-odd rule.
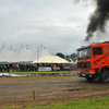
[[[51, 53], [73, 53], [85, 45], [94, 5], [74, 0], [0, 0], [0, 48], [14, 51], [28, 45], [36, 51], [43, 44]], [[95, 41], [98, 39], [95, 39]], [[90, 39], [92, 41], [92, 39]]]

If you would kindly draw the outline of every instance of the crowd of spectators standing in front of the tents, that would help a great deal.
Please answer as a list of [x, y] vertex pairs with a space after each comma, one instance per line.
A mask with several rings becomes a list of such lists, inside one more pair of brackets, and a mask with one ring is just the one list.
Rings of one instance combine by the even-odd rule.
[[0, 72], [36, 72], [38, 70], [38, 66], [51, 66], [51, 70], [53, 71], [55, 66], [60, 66], [60, 70], [63, 71], [64, 65], [63, 64], [48, 64], [48, 63], [39, 63], [39, 64], [33, 64], [33, 63], [11, 63], [11, 64], [0, 64]]

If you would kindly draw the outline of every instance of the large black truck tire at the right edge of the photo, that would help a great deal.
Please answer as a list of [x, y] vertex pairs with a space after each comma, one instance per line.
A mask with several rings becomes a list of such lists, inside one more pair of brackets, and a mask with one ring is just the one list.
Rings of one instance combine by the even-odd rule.
[[102, 71], [99, 76], [99, 81], [102, 83], [109, 82], [109, 71], [107, 71], [107, 70]]

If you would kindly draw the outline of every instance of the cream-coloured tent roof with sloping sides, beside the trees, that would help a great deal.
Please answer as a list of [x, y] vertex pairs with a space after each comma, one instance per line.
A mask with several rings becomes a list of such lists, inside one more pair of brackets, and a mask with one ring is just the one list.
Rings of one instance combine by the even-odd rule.
[[58, 57], [58, 56], [44, 56], [33, 63], [69, 63], [69, 61]]

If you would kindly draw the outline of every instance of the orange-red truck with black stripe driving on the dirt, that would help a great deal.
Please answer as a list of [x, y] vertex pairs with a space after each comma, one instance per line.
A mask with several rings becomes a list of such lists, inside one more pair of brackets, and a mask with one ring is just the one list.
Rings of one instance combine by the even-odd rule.
[[77, 70], [80, 77], [87, 81], [99, 78], [109, 81], [109, 41], [90, 44], [77, 49]]

